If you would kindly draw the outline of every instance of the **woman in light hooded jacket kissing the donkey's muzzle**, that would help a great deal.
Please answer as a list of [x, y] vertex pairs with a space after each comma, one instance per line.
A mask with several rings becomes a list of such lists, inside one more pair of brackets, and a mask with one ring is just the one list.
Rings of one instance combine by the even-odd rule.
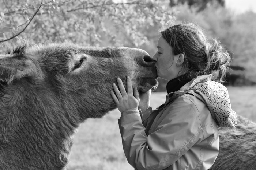
[[113, 84], [125, 156], [136, 170], [209, 169], [219, 153], [217, 125], [236, 127], [221, 84], [230, 56], [191, 23], [161, 31], [157, 48], [157, 74], [169, 80], [164, 104], [152, 111], [150, 91], [139, 96], [129, 76], [127, 92], [120, 78], [120, 91]]

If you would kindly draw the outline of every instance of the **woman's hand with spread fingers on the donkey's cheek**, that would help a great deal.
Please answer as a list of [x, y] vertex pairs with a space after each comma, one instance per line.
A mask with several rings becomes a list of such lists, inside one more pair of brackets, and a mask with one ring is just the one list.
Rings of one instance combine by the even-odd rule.
[[[131, 78], [127, 76], [127, 92], [124, 88], [123, 82], [120, 78], [117, 78], [117, 83], [120, 88], [120, 91], [118, 90], [116, 84], [113, 84], [113, 89], [116, 92], [116, 95], [114, 94], [113, 90], [111, 90], [111, 96], [116, 103], [116, 106], [120, 112], [123, 112], [130, 108], [136, 108], [138, 109], [139, 106], [139, 92], [137, 90], [137, 87], [134, 88], [134, 91], [132, 90], [132, 82]], [[134, 95], [133, 95], [134, 92]]]

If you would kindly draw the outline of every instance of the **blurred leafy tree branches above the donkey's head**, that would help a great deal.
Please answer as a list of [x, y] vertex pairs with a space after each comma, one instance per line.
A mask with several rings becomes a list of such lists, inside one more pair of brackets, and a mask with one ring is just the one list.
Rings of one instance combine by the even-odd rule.
[[[173, 17], [168, 0], [3, 0], [0, 42], [71, 39], [87, 46], [149, 42], [147, 29]], [[0, 44], [1, 46], [1, 44]]]

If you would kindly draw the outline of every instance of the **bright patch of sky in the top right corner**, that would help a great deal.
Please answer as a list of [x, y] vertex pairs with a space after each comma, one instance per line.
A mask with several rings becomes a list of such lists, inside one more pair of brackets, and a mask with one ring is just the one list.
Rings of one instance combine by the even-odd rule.
[[225, 0], [225, 5], [236, 13], [256, 12], [256, 0]]

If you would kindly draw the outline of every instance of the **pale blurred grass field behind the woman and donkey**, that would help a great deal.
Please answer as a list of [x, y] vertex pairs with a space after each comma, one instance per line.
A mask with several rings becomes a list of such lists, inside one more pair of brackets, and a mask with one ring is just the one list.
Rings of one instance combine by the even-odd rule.
[[[256, 87], [227, 87], [231, 106], [237, 114], [256, 122]], [[165, 102], [166, 92], [151, 94], [151, 106]], [[123, 153], [114, 110], [102, 119], [88, 119], [75, 135], [68, 170], [133, 170]]]

